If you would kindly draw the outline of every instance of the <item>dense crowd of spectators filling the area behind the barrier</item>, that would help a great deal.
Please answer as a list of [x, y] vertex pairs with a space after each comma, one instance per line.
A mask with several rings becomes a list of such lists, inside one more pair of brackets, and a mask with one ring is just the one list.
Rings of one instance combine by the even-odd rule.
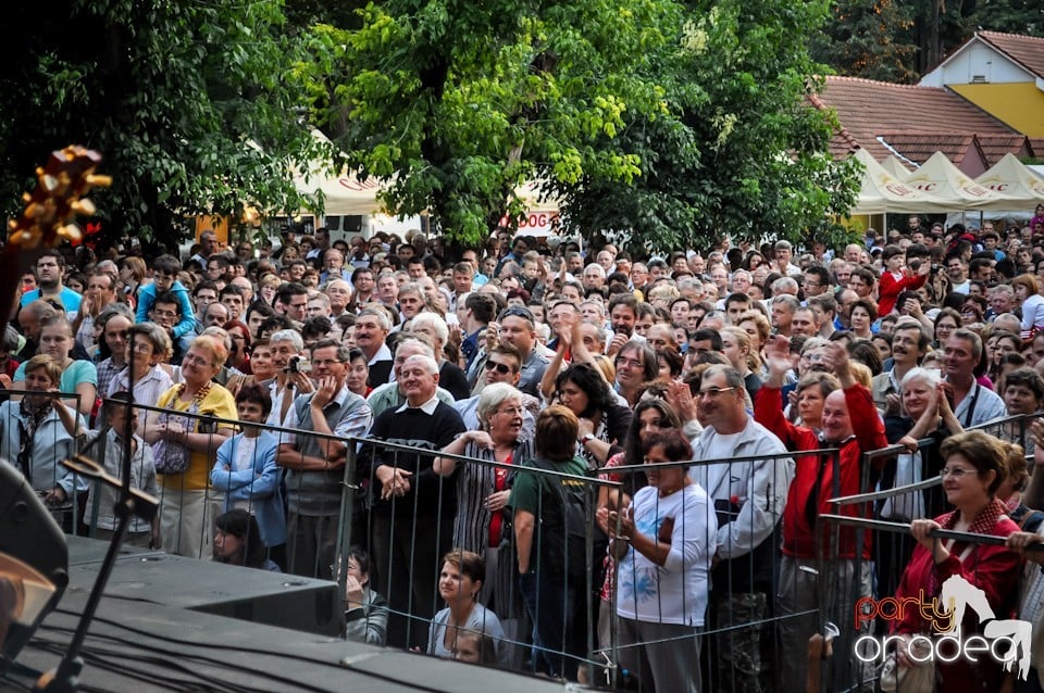
[[[1044, 205], [997, 226], [911, 216], [837, 249], [724, 239], [662, 256], [323, 228], [276, 248], [203, 231], [184, 259], [47, 251], [3, 335], [0, 454], [69, 531], [107, 537], [111, 494], [59, 462], [98, 445], [119, 475], [129, 449], [133, 482], [162, 505], [128, 541], [343, 568], [353, 640], [566, 678], [619, 652], [618, 672], [651, 690], [796, 690], [818, 676], [820, 608], [937, 593], [945, 572], [997, 618], [1044, 610], [1037, 574], [1020, 574], [1044, 517], [1029, 509], [1044, 472], [1026, 466], [1044, 465], [1029, 418], [1044, 406]], [[868, 462], [890, 443], [906, 452]], [[940, 475], [845, 509], [911, 533], [843, 528], [820, 575], [832, 497]], [[577, 507], [604, 539], [585, 579]], [[937, 528], [1009, 546], [944, 544]], [[915, 621], [892, 628], [930, 629]], [[861, 676], [852, 640], [834, 644], [838, 680]], [[902, 645], [896, 658], [917, 665]], [[1018, 684], [1041, 690], [1035, 671]]]

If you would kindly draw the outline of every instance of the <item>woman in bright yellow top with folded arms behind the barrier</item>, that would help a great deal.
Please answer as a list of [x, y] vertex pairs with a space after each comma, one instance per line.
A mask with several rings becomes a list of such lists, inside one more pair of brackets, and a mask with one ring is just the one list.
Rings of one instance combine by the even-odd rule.
[[211, 554], [214, 517], [223, 509], [221, 494], [211, 490], [208, 481], [211, 461], [232, 436], [232, 425], [198, 417], [236, 418], [232, 393], [213, 382], [227, 357], [228, 349], [221, 339], [204, 335], [192, 340], [182, 360], [182, 382], [157, 402], [165, 411], [149, 412], [146, 419], [144, 438], [152, 445], [157, 471], [167, 469], [160, 483], [163, 546], [182, 556]]

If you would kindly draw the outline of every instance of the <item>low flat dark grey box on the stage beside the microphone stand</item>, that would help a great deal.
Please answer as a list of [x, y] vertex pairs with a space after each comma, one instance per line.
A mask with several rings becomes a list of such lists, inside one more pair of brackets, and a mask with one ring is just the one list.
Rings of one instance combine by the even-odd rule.
[[[88, 547], [77, 547], [78, 555], [88, 553]], [[100, 566], [100, 559], [70, 566], [70, 588], [89, 591]], [[105, 596], [321, 635], [340, 633], [343, 605], [335, 582], [164, 553], [121, 556], [109, 578]]]

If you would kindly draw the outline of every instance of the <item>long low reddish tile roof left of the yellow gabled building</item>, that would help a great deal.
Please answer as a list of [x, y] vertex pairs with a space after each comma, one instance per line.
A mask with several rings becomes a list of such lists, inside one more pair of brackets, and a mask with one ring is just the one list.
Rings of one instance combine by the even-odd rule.
[[[1022, 136], [948, 89], [831, 76], [809, 101], [837, 112], [841, 129], [830, 144], [837, 158], [861, 147], [878, 161], [895, 153], [921, 163], [943, 151], [959, 166], [975, 147], [989, 166], [1004, 152], [1024, 148]], [[1010, 149], [1000, 146], [1008, 139]]]

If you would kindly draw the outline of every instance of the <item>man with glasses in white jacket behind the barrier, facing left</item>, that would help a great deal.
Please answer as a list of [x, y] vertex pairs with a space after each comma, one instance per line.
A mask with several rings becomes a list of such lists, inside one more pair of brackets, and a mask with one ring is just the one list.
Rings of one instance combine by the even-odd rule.
[[[695, 396], [704, 424], [693, 445], [695, 458], [723, 461], [692, 468], [718, 514], [710, 618], [711, 628], [723, 632], [714, 639], [711, 660], [717, 659], [721, 680], [736, 682], [737, 690], [762, 691], [761, 680], [772, 667], [761, 659], [761, 639], [773, 635], [771, 629], [762, 633], [759, 623], [771, 614], [769, 600], [775, 594], [776, 530], [794, 462], [748, 461], [786, 453], [786, 448], [747, 413], [743, 376], [735, 368], [705, 370]], [[741, 625], [746, 628], [733, 628]]]

